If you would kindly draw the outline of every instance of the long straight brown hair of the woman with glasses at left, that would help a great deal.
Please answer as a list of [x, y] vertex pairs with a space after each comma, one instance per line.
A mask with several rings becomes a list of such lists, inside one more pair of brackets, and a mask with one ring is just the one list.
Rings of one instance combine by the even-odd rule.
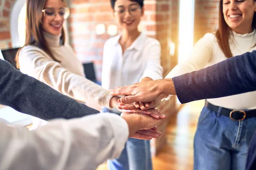
[[[47, 42], [44, 39], [44, 35], [43, 35], [42, 10], [44, 9], [46, 1], [47, 0], [27, 0], [26, 2], [26, 40], [25, 40], [24, 46], [34, 45], [38, 48], [41, 48], [50, 57], [52, 57], [52, 59], [54, 59], [55, 61], [58, 61], [52, 55], [49, 49], [49, 46], [47, 45]], [[65, 0], [61, 0], [61, 1], [65, 2]], [[64, 45], [64, 43], [65, 43], [65, 33], [64, 33], [64, 29], [62, 28], [61, 44]], [[20, 48], [17, 51], [16, 57], [15, 57], [17, 68], [20, 68], [19, 54], [22, 48]]]

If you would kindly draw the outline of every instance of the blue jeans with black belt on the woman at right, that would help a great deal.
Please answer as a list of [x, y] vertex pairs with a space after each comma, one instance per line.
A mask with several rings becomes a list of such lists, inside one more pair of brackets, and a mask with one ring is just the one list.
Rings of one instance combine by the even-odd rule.
[[233, 121], [204, 107], [194, 139], [194, 170], [244, 170], [256, 118]]

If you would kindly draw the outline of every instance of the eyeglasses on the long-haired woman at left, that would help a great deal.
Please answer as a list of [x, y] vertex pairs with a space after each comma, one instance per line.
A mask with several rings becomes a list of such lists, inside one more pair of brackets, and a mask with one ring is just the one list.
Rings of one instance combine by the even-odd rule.
[[64, 19], [67, 19], [67, 17], [70, 14], [70, 9], [69, 8], [60, 8], [60, 9], [55, 9], [55, 8], [45, 8], [42, 10], [44, 13], [44, 17], [52, 17], [54, 19], [57, 16], [57, 12], [60, 15], [60, 17], [63, 17]]

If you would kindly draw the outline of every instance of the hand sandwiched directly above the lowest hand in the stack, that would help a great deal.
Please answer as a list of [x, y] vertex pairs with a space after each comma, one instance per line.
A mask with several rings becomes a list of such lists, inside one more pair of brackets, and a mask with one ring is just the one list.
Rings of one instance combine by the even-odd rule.
[[148, 109], [146, 111], [141, 110], [140, 108], [137, 109], [131, 109], [131, 110], [124, 110], [122, 107], [117, 107], [117, 110], [120, 112], [127, 112], [127, 113], [144, 113], [146, 115], [149, 115], [155, 119], [165, 119], [166, 116], [162, 113], [159, 109]]

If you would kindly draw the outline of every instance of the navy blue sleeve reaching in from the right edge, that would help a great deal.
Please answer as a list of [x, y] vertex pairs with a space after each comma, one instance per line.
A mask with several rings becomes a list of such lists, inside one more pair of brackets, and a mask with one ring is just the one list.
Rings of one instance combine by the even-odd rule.
[[256, 51], [173, 78], [181, 103], [256, 91]]

